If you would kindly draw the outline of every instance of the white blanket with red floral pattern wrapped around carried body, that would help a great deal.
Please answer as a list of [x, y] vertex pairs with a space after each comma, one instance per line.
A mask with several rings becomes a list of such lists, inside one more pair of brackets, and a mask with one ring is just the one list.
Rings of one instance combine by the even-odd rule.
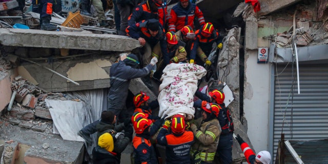
[[163, 70], [159, 86], [160, 117], [171, 117], [177, 113], [194, 117], [193, 97], [197, 90], [198, 80], [206, 75], [206, 69], [195, 64], [170, 64]]

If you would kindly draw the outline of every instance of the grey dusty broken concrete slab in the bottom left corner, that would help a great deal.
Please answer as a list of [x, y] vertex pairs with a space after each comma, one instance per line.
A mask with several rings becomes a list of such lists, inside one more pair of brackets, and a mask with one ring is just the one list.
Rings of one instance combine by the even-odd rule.
[[[24, 154], [24, 162], [27, 164], [83, 163], [83, 142], [63, 140], [59, 135], [49, 132], [41, 133], [18, 126], [9, 126], [10, 128], [0, 128], [0, 140], [13, 140], [11, 144], [5, 144], [5, 147], [11, 146], [12, 152], [13, 146], [17, 145], [18, 142], [23, 145], [31, 146]], [[16, 133], [12, 133], [13, 131]], [[49, 148], [43, 148], [45, 143], [49, 144]], [[12, 159], [12, 153], [8, 153], [6, 157]]]

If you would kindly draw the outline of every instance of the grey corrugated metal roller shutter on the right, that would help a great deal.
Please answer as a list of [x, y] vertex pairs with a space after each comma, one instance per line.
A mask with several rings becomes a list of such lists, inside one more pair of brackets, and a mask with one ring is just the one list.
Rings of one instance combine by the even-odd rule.
[[[300, 94], [297, 93], [297, 79], [295, 78], [293, 97], [290, 94], [293, 81], [292, 66], [285, 68], [285, 65], [280, 64], [275, 72], [274, 160], [282, 126], [282, 133], [285, 134], [286, 140], [328, 138], [328, 65], [299, 65], [299, 70]], [[296, 76], [296, 66], [294, 66], [294, 74]], [[291, 111], [292, 98], [293, 111]], [[285, 121], [282, 125], [283, 119]]]

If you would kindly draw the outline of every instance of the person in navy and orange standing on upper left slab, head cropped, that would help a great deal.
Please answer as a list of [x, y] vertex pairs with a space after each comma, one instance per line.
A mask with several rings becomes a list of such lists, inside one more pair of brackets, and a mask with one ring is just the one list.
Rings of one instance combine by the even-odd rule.
[[32, 0], [32, 11], [40, 14], [40, 30], [56, 30], [57, 26], [50, 24], [53, 0]]

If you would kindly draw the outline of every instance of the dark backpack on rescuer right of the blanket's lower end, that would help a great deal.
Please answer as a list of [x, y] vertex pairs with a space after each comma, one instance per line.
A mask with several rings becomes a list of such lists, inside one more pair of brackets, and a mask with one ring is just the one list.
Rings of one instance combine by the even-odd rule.
[[218, 120], [220, 122], [221, 126], [221, 134], [228, 134], [232, 133], [234, 131], [234, 122], [232, 120], [230, 111], [226, 108], [226, 105], [219, 104], [221, 107], [219, 115], [218, 115]]

